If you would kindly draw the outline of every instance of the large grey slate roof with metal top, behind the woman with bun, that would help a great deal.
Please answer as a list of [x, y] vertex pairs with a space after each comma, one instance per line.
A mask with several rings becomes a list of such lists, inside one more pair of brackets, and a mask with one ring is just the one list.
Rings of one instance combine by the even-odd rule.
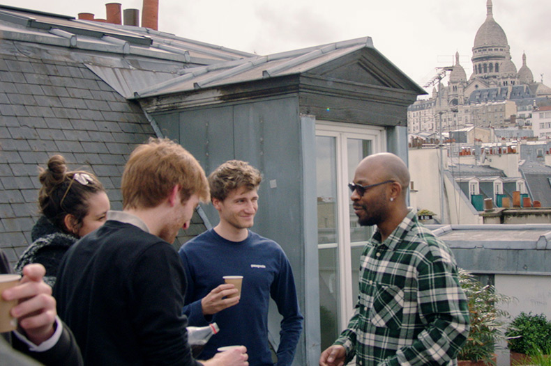
[[[121, 209], [128, 154], [157, 136], [126, 96], [186, 67], [245, 56], [151, 29], [0, 6], [0, 247], [8, 260], [31, 242], [39, 165], [63, 154], [68, 168], [96, 173]], [[205, 230], [200, 214], [176, 247]]]

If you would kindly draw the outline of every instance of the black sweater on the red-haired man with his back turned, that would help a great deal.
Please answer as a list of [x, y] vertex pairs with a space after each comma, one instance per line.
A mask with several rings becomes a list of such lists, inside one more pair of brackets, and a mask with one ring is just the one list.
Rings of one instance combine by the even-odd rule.
[[198, 365], [181, 311], [185, 289], [170, 244], [110, 220], [68, 250], [54, 296], [87, 366]]

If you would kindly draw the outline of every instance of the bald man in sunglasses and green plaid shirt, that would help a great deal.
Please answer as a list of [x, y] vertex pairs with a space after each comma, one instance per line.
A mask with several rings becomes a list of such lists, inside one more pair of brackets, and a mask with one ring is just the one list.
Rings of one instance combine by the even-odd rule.
[[451, 250], [407, 207], [409, 171], [388, 152], [363, 159], [349, 184], [362, 226], [360, 294], [347, 329], [320, 366], [456, 365], [469, 333], [467, 300]]

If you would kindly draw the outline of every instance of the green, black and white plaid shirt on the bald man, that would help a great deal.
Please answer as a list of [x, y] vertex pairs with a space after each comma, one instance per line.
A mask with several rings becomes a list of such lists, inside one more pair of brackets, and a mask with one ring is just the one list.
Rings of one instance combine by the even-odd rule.
[[360, 294], [335, 341], [360, 366], [455, 365], [469, 333], [467, 299], [451, 250], [410, 211], [363, 248]]

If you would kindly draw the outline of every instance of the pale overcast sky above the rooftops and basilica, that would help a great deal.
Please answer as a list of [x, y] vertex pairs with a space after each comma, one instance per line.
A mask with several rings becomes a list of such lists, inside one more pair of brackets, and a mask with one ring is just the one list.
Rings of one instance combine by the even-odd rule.
[[[273, 54], [370, 36], [375, 48], [423, 86], [435, 67], [452, 65], [455, 51], [467, 77], [487, 0], [160, 0], [159, 31], [257, 54]], [[0, 0], [77, 17], [105, 19], [110, 0]], [[114, 2], [114, 1], [113, 1]], [[517, 70], [522, 52], [536, 81], [551, 86], [550, 0], [492, 0]], [[142, 0], [123, 0], [139, 9]], [[432, 90], [432, 88], [430, 88]], [[428, 90], [430, 91], [430, 90]]]

